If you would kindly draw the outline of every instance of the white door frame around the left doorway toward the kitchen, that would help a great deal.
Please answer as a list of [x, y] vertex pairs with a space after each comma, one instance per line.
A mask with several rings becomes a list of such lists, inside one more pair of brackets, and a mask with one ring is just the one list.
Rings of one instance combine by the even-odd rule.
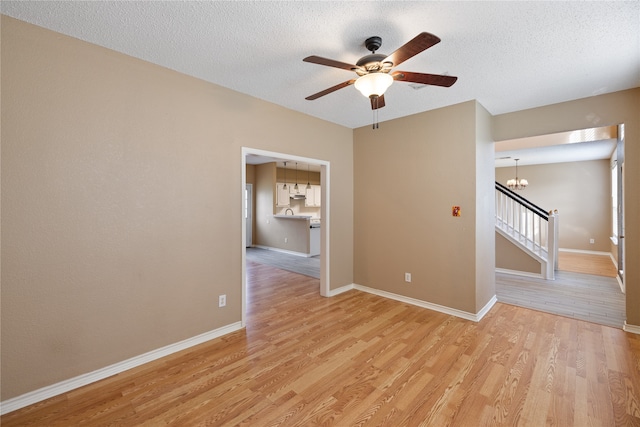
[[242, 147], [241, 149], [241, 191], [242, 191], [242, 261], [241, 261], [241, 274], [242, 274], [242, 290], [241, 290], [241, 300], [242, 300], [242, 327], [246, 325], [246, 313], [247, 313], [247, 248], [245, 247], [246, 242], [246, 233], [247, 233], [247, 224], [244, 220], [244, 191], [247, 184], [247, 155], [256, 155], [262, 157], [270, 157], [273, 158], [274, 162], [276, 160], [282, 161], [293, 161], [293, 162], [301, 162], [308, 163], [311, 165], [320, 166], [320, 185], [321, 185], [321, 198], [322, 205], [320, 207], [320, 217], [322, 218], [322, 227], [320, 228], [320, 295], [323, 297], [329, 297], [330, 294], [330, 252], [331, 252], [331, 244], [330, 244], [330, 229], [331, 229], [331, 163], [326, 160], [314, 159], [310, 157], [300, 157], [294, 156], [286, 153], [278, 153], [275, 151], [266, 151], [260, 150], [257, 148], [250, 147]]

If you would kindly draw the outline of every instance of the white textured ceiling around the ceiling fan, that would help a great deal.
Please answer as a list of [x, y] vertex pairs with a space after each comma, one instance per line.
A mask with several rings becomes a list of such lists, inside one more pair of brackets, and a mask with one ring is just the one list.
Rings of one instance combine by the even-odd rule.
[[389, 54], [427, 31], [442, 42], [405, 71], [458, 77], [450, 88], [395, 82], [379, 121], [477, 99], [492, 114], [640, 86], [640, 2], [35, 2], [3, 14], [349, 128], [369, 125], [347, 63], [382, 37]]

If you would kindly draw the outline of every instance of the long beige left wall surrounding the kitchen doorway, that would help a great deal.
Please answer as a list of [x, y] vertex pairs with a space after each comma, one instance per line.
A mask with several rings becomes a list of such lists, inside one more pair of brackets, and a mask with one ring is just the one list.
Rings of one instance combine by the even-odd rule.
[[353, 282], [350, 129], [4, 16], [1, 59], [0, 399], [241, 320], [242, 146], [330, 162]]

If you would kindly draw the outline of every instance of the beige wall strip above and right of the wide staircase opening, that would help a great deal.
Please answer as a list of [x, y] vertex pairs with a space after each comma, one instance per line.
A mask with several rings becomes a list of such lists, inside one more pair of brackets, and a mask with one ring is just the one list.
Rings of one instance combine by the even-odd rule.
[[[496, 141], [625, 124], [627, 323], [640, 326], [640, 88], [533, 108], [493, 119]], [[524, 175], [523, 175], [524, 176]], [[562, 221], [562, 217], [560, 218]]]

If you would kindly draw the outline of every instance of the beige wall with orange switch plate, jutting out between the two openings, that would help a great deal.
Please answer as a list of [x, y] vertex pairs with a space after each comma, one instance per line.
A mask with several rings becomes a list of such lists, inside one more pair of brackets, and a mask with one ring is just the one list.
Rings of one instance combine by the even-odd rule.
[[[478, 108], [465, 102], [354, 131], [357, 284], [469, 313], [495, 295], [492, 211], [478, 213], [493, 205], [493, 144]], [[487, 123], [477, 129], [476, 120]], [[477, 156], [488, 166], [478, 168]], [[479, 230], [487, 215], [489, 233]], [[477, 248], [487, 253], [482, 272]]]

